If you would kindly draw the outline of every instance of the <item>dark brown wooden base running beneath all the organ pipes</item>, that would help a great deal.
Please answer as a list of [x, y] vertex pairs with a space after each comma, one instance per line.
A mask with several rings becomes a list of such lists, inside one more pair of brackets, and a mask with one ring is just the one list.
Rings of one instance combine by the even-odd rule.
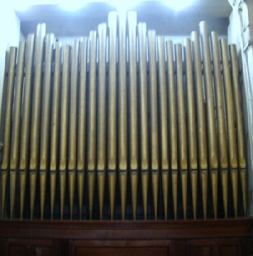
[[1, 256], [250, 256], [252, 219], [0, 221]]

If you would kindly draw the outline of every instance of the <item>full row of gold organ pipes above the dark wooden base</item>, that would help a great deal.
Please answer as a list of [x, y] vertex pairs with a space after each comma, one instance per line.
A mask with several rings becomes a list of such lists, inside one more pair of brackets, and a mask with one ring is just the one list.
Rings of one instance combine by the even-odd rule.
[[198, 202], [204, 219], [209, 211], [218, 218], [218, 207], [228, 218], [230, 202], [231, 215], [239, 207], [246, 215], [236, 46], [216, 32], [209, 36], [206, 22], [183, 45], [167, 39], [137, 24], [135, 12], [110, 12], [107, 25], [72, 46], [61, 46], [39, 24], [18, 52], [10, 48], [1, 110], [1, 218], [23, 219], [27, 201], [33, 219], [38, 201], [41, 220], [46, 202], [53, 219], [59, 195], [59, 218], [68, 204], [72, 219], [77, 201], [79, 218], [85, 205], [91, 220], [97, 194], [102, 220], [108, 194], [113, 220], [116, 183], [122, 220], [128, 193], [133, 220], [138, 194], [144, 220], [149, 194], [155, 220], [159, 202], [163, 219], [169, 209], [178, 218], [180, 209], [186, 220], [189, 198], [194, 219]]

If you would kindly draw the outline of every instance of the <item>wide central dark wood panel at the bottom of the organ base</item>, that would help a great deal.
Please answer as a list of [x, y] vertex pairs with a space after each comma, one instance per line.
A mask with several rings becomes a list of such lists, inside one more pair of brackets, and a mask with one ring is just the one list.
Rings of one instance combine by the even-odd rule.
[[77, 248], [76, 256], [167, 256], [166, 247]]

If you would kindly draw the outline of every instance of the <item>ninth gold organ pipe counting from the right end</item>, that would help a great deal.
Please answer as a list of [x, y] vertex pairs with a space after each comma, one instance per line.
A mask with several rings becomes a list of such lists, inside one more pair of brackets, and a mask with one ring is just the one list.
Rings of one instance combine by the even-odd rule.
[[164, 37], [158, 36], [158, 67], [159, 67], [159, 107], [160, 107], [160, 143], [163, 188], [163, 208], [165, 219], [168, 214], [168, 105], [166, 88], [165, 43]]

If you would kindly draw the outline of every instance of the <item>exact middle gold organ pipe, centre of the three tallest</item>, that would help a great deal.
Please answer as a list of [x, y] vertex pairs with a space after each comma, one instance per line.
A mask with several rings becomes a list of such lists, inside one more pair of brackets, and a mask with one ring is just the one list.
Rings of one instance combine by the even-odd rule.
[[127, 13], [119, 15], [119, 186], [121, 217], [125, 219], [127, 200]]

